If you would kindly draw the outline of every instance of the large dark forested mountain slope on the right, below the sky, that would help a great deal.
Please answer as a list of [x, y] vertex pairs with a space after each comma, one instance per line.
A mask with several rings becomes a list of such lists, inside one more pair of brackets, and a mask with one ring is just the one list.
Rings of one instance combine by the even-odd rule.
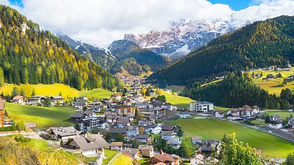
[[294, 62], [294, 17], [280, 16], [225, 34], [187, 57], [154, 73], [150, 80], [160, 85], [188, 85], [223, 76]]

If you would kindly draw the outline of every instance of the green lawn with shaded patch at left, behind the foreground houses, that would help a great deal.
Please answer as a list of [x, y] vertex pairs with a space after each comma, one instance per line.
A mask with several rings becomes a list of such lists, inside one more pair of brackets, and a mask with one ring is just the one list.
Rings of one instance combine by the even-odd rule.
[[69, 107], [21, 106], [16, 103], [5, 103], [10, 119], [24, 122], [36, 122], [36, 127], [46, 129], [57, 126], [71, 126], [71, 114], [76, 113]]

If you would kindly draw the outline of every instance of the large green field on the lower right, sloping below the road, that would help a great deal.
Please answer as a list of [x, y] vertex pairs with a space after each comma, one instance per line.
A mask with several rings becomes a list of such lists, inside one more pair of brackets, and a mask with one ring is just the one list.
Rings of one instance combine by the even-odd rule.
[[203, 139], [218, 138], [221, 140], [223, 134], [235, 132], [239, 141], [262, 150], [262, 155], [269, 155], [269, 157], [285, 158], [288, 153], [294, 151], [294, 145], [290, 141], [225, 120], [179, 119], [169, 121], [167, 124], [177, 124], [183, 129], [186, 136], [202, 136]]

